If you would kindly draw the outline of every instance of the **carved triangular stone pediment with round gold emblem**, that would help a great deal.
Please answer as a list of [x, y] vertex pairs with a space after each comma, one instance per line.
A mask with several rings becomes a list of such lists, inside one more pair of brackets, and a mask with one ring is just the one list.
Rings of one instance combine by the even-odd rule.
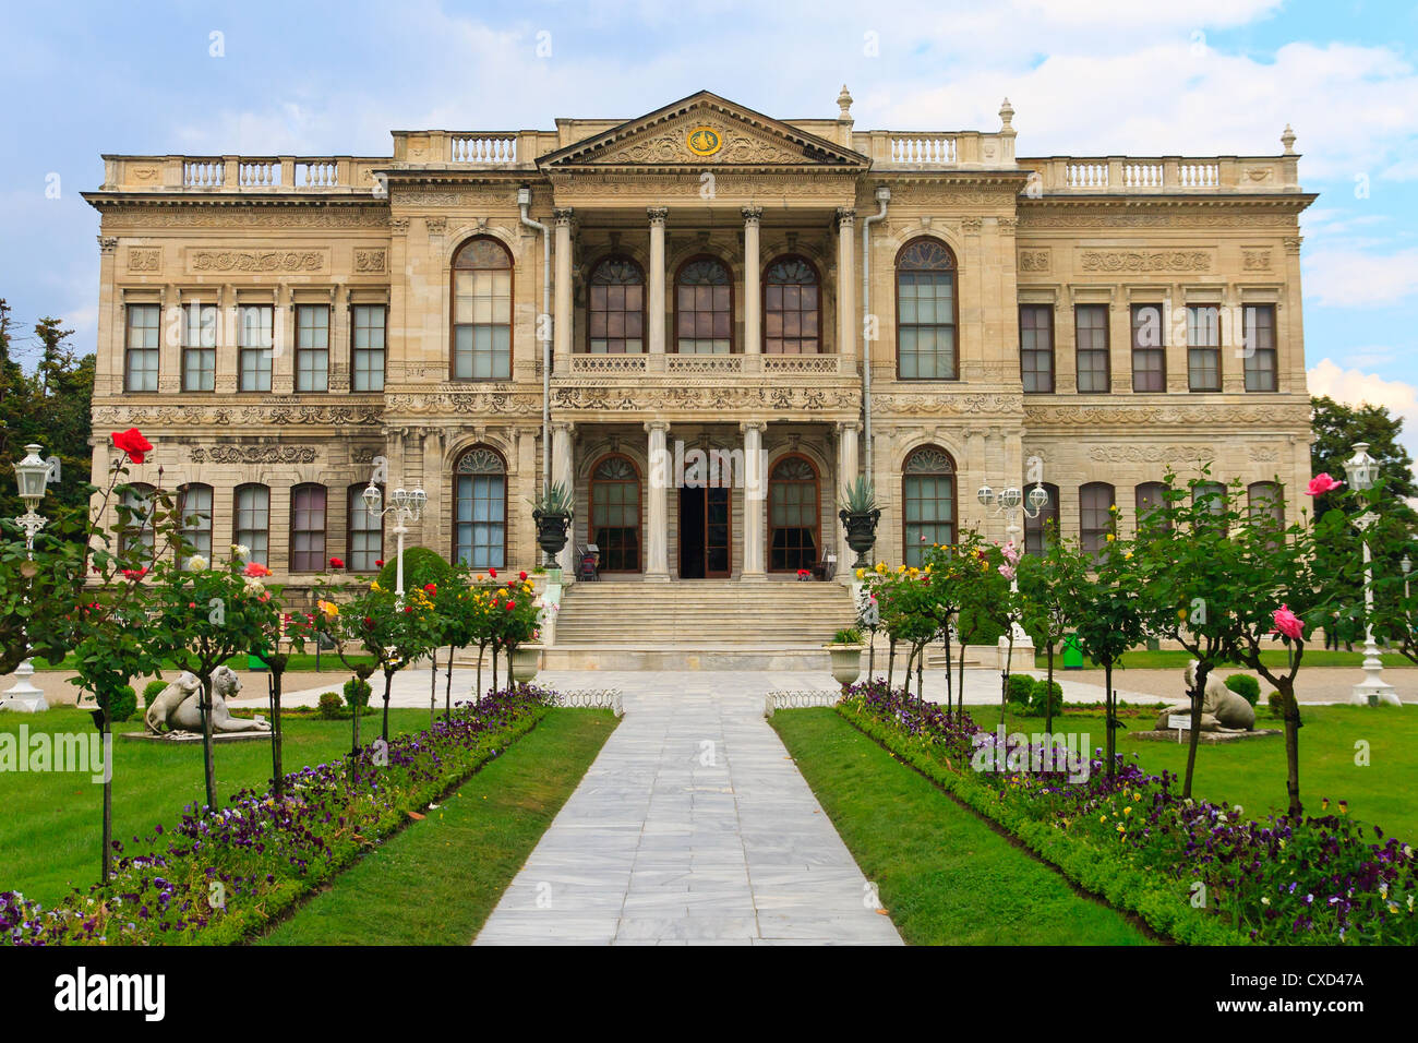
[[869, 166], [866, 156], [699, 91], [537, 160], [543, 170], [605, 166]]

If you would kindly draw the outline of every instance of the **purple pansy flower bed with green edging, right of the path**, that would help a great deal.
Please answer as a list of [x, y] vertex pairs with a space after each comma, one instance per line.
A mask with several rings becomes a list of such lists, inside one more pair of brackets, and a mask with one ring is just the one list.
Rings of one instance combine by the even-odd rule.
[[1120, 756], [1112, 779], [1095, 756], [1088, 780], [1072, 783], [1066, 771], [973, 771], [990, 734], [879, 680], [851, 685], [838, 712], [1069, 878], [1176, 941], [1418, 942], [1414, 849], [1353, 822], [1343, 803], [1337, 815], [1254, 822], [1239, 809], [1183, 800], [1176, 776], [1147, 775]]

